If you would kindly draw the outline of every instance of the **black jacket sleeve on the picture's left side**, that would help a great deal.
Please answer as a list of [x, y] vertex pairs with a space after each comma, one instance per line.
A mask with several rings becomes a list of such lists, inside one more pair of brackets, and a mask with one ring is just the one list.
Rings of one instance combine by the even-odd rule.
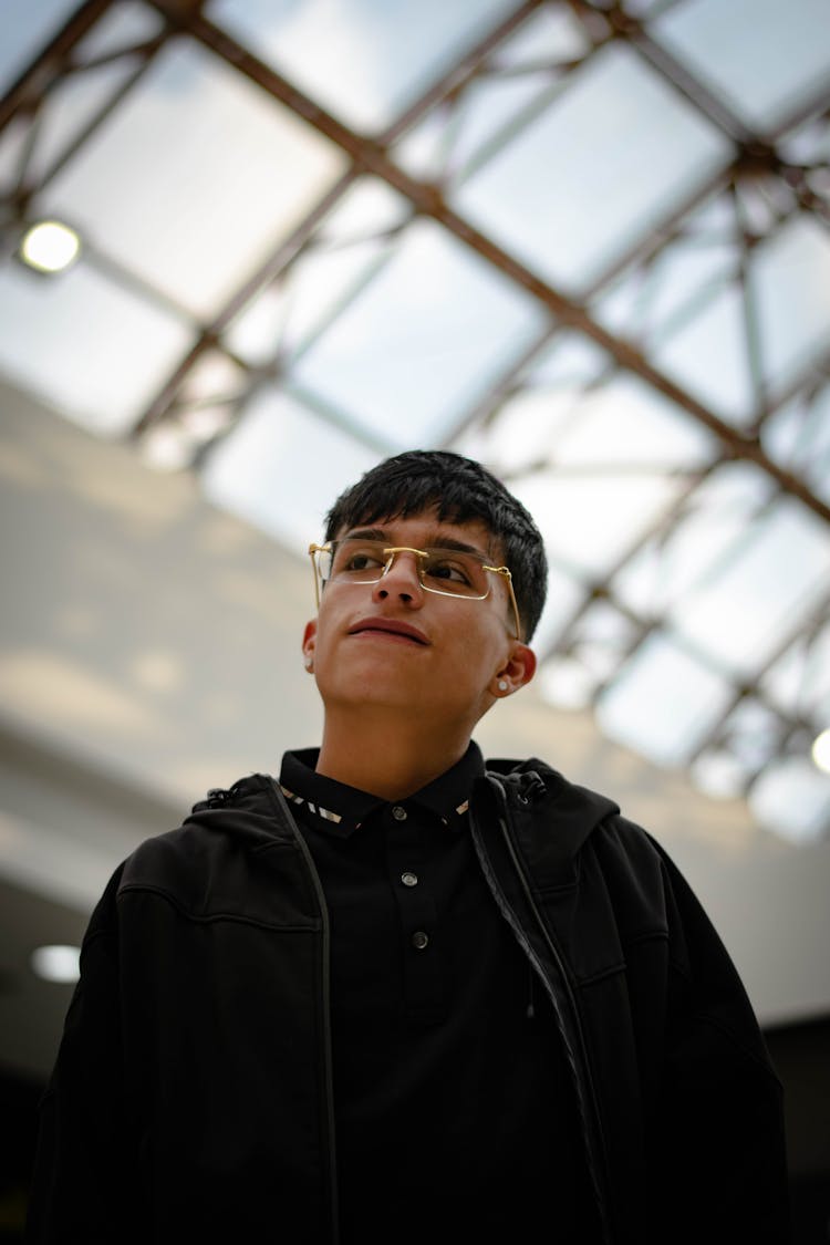
[[81, 979], [40, 1103], [29, 1196], [31, 1245], [123, 1241], [134, 1138], [126, 1127], [116, 893], [121, 869], [92, 914]]

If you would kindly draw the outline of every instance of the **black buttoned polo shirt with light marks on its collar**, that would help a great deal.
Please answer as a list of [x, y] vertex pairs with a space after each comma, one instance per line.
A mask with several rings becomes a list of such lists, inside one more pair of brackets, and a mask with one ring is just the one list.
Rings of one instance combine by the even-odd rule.
[[[280, 783], [331, 921], [343, 1245], [592, 1240], [580, 1132], [549, 1005], [478, 865], [474, 743], [389, 803], [287, 752]], [[449, 1239], [449, 1238], [447, 1238]]]

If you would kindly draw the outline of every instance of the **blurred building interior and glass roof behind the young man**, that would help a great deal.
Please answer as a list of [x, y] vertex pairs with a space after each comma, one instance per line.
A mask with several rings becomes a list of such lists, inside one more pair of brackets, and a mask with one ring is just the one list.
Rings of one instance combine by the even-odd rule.
[[477, 738], [714, 919], [830, 1239], [826, 0], [2, 0], [0, 1239], [110, 873], [317, 742], [306, 549], [403, 448], [551, 563]]

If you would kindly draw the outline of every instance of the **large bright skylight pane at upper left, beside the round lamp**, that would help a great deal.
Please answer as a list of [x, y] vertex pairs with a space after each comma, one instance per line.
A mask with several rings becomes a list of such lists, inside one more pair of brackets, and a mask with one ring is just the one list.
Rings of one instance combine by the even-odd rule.
[[194, 314], [219, 310], [345, 168], [195, 44], [168, 45], [41, 205]]

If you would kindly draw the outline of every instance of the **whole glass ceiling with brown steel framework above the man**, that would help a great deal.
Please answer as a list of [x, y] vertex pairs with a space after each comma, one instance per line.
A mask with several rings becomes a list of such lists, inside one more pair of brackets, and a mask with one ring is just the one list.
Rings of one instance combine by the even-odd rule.
[[480, 458], [543, 695], [828, 833], [826, 0], [5, 0], [0, 95], [12, 382], [297, 554], [386, 454]]

